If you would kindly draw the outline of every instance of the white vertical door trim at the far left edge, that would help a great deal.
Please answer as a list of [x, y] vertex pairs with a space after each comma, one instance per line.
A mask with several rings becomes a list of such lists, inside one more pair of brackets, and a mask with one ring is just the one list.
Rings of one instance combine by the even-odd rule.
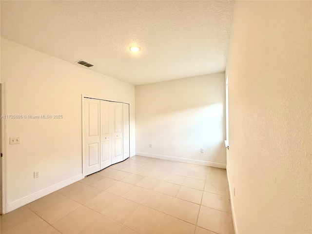
[[[5, 81], [1, 80], [1, 114], [6, 115], [6, 106], [5, 106]], [[1, 214], [6, 214], [7, 213], [7, 197], [6, 197], [6, 119], [1, 118], [1, 126], [2, 126], [2, 131], [1, 131], [1, 148], [0, 151], [2, 153], [2, 158], [1, 160], [1, 198], [2, 201], [0, 201], [0, 206], [1, 206]]]

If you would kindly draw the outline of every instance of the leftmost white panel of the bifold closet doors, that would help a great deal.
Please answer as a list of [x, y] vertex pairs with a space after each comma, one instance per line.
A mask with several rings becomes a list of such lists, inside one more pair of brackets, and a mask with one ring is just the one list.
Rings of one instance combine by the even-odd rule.
[[100, 101], [84, 98], [85, 176], [100, 170]]

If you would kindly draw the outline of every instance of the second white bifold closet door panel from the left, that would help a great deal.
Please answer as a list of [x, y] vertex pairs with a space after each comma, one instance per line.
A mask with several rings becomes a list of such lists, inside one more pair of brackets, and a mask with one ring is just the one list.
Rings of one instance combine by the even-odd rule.
[[100, 100], [100, 170], [112, 165], [110, 102]]

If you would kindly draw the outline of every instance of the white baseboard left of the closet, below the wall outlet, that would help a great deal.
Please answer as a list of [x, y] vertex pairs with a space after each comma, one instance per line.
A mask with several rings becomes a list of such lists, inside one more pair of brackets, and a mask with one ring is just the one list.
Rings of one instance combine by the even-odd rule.
[[6, 212], [10, 212], [10, 211], [13, 211], [15, 209], [18, 209], [20, 208], [21, 206], [23, 205], [26, 205], [32, 201], [35, 201], [45, 195], [48, 195], [48, 194], [51, 194], [59, 189], [62, 189], [64, 187], [66, 187], [67, 185], [70, 185], [72, 183], [75, 183], [77, 182], [78, 180], [80, 179], [83, 179], [83, 176], [82, 174], [78, 175], [78, 176], [74, 176], [72, 178], [69, 178], [69, 179], [66, 179], [58, 184], [55, 184], [55, 185], [52, 185], [46, 189], [43, 189], [37, 193], [34, 193], [32, 195], [28, 195], [28, 196], [25, 196], [17, 201], [14, 201], [14, 202], [11, 202], [8, 204], [7, 208], [6, 208]]

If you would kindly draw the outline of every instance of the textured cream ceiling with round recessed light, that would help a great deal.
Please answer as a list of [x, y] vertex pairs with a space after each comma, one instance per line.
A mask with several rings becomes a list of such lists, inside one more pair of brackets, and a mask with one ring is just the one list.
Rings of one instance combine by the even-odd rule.
[[1, 37], [139, 85], [224, 71], [233, 5], [1, 0]]

